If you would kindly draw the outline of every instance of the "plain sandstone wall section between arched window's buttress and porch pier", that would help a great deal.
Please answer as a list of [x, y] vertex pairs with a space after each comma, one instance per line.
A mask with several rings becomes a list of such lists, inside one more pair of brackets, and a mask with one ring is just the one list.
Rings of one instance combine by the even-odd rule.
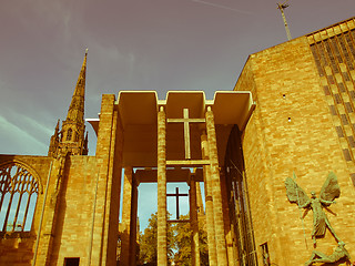
[[65, 257], [80, 257], [80, 264], [87, 265], [91, 252], [98, 181], [95, 157], [71, 156], [65, 174], [50, 265], [63, 265]]

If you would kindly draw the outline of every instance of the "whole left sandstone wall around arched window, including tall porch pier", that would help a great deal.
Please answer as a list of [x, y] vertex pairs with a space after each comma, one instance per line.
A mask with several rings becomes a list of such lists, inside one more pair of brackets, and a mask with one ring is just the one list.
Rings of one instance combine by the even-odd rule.
[[0, 265], [116, 265], [123, 136], [114, 101], [103, 95], [97, 156], [0, 155], [0, 164], [28, 166], [40, 186], [32, 231], [0, 234]]

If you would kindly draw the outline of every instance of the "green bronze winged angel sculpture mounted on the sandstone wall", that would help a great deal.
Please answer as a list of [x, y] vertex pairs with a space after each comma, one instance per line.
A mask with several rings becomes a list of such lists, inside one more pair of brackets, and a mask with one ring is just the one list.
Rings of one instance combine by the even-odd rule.
[[[293, 175], [294, 178], [296, 178], [295, 173]], [[333, 172], [328, 174], [322, 186], [320, 198], [316, 197], [315, 192], [311, 192], [310, 198], [307, 194], [291, 177], [286, 178], [285, 185], [287, 197], [291, 203], [297, 203], [300, 208], [312, 208], [313, 211], [312, 239], [314, 245], [316, 244], [317, 237], [323, 237], [325, 235], [326, 227], [331, 231], [336, 242], [341, 242], [323, 211], [323, 207], [331, 206], [332, 203], [335, 203], [334, 200], [341, 196], [341, 188], [337, 183], [336, 175]]]

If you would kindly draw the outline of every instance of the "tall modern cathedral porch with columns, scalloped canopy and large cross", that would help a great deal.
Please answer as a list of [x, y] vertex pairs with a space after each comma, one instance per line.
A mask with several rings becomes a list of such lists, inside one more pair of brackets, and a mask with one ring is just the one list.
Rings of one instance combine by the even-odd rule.
[[[170, 91], [165, 100], [159, 100], [153, 91], [121, 91], [118, 99], [103, 95], [101, 106], [99, 119], [87, 121], [98, 135], [98, 163], [104, 162], [105, 165], [100, 168], [102, 178], [112, 186], [119, 185], [121, 168], [125, 170], [124, 182], [130, 185], [124, 184], [124, 194], [128, 192], [129, 195], [123, 197], [131, 200], [122, 206], [122, 222], [125, 219], [126, 223], [124, 228], [134, 228], [132, 225], [136, 223], [138, 185], [156, 182], [158, 264], [168, 265], [166, 182], [186, 182], [190, 194], [193, 194], [191, 198], [196, 197], [195, 183], [204, 182], [210, 265], [235, 265], [237, 243], [233, 242], [236, 242], [237, 233], [232, 232], [236, 227], [231, 226], [233, 221], [227, 207], [235, 204], [235, 198], [231, 197], [231, 176], [222, 168], [230, 162], [234, 167], [242, 163], [233, 162], [232, 154], [239, 153], [239, 147], [227, 149], [227, 143], [231, 142], [231, 132], [241, 136], [255, 108], [251, 92], [217, 91], [213, 100], [206, 100], [202, 91]], [[243, 172], [243, 166], [240, 171]], [[111, 191], [120, 190], [112, 187]], [[119, 207], [119, 202], [109, 198], [103, 202], [111, 204], [110, 208]], [[195, 239], [192, 242], [192, 264], [200, 265], [199, 237], [195, 237], [199, 229], [194, 229], [197, 208], [195, 201], [190, 202], [190, 222]], [[126, 205], [130, 207], [125, 208]], [[116, 225], [108, 226], [116, 228]], [[126, 241], [122, 239], [121, 259], [124, 265], [135, 265], [134, 258], [129, 255], [135, 234], [132, 231], [125, 233], [129, 236], [124, 236]]]

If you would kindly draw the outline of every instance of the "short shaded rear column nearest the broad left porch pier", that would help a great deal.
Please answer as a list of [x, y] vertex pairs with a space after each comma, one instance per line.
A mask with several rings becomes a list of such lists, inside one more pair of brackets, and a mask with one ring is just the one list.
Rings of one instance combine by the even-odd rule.
[[130, 265], [130, 238], [131, 238], [131, 222], [132, 222], [132, 192], [133, 192], [133, 168], [126, 166], [124, 168], [123, 181], [123, 205], [122, 205], [122, 221], [121, 221], [121, 265]]

